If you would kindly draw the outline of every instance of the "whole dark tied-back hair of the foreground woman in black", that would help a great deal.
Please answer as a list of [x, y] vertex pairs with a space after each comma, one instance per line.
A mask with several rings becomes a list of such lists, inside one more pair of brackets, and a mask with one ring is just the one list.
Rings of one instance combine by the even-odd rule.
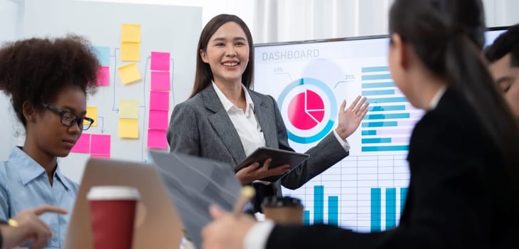
[[396, 0], [389, 20], [389, 33], [410, 43], [432, 73], [466, 98], [501, 153], [505, 172], [518, 177], [519, 127], [483, 61], [481, 0]]

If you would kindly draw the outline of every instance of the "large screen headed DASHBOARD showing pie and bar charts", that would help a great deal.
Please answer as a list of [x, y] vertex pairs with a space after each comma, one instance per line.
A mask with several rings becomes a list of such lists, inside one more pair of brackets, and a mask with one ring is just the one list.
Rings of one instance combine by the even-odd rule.
[[[486, 33], [491, 43], [503, 28]], [[349, 156], [286, 196], [301, 198], [304, 223], [359, 232], [399, 223], [408, 192], [406, 161], [414, 124], [423, 115], [396, 88], [387, 36], [255, 46], [254, 89], [277, 100], [289, 144], [305, 152], [336, 127], [341, 102], [366, 96], [369, 112], [348, 139]]]

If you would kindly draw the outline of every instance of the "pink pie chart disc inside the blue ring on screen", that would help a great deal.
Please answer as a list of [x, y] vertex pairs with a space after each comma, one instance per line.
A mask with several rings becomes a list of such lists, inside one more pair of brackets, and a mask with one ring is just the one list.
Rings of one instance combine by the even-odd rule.
[[324, 119], [324, 102], [316, 92], [307, 89], [290, 100], [287, 115], [297, 129], [312, 129]]

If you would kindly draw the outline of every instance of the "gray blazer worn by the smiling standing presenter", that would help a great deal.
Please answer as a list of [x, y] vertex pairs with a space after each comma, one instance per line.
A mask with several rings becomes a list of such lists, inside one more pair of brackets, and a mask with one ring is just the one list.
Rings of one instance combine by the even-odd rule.
[[[267, 147], [287, 149], [287, 128], [273, 97], [248, 90], [255, 106], [255, 115]], [[175, 106], [168, 127], [168, 142], [171, 152], [182, 152], [197, 157], [215, 159], [232, 166], [245, 159], [245, 150], [229, 115], [215, 90], [209, 85], [195, 97]], [[297, 189], [310, 179], [344, 159], [346, 152], [333, 132], [309, 149], [309, 159], [287, 176], [270, 184], [272, 193], [281, 196], [281, 184], [288, 189]]]

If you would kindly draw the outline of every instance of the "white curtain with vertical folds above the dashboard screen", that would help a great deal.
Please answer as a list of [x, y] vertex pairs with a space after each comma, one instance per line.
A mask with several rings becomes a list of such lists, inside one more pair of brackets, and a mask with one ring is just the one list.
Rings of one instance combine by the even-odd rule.
[[[253, 37], [256, 43], [271, 43], [386, 34], [393, 1], [255, 0]], [[519, 1], [483, 4], [487, 26], [519, 23]]]

